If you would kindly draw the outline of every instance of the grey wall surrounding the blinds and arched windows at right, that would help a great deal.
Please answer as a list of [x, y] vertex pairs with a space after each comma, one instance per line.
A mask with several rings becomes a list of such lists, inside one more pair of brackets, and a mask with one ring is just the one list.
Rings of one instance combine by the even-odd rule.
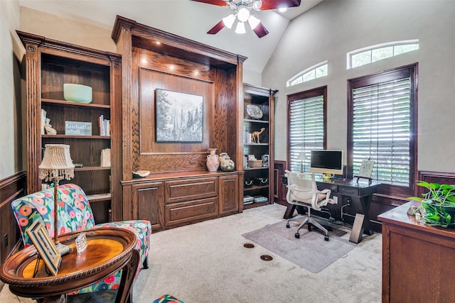
[[[262, 73], [279, 89], [275, 133], [287, 128], [287, 94], [328, 86], [328, 148], [346, 150], [347, 80], [419, 62], [418, 169], [455, 172], [455, 1], [323, 1], [291, 21]], [[419, 50], [346, 70], [346, 53], [419, 39]], [[323, 60], [328, 76], [294, 87], [287, 79]], [[275, 158], [286, 160], [286, 136]]]

